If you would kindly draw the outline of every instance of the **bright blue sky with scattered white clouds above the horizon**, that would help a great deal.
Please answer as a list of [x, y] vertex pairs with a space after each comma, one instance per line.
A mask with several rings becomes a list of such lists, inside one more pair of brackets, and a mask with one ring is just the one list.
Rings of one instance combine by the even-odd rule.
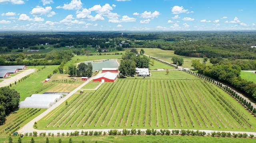
[[256, 30], [256, 0], [0, 0], [0, 30]]

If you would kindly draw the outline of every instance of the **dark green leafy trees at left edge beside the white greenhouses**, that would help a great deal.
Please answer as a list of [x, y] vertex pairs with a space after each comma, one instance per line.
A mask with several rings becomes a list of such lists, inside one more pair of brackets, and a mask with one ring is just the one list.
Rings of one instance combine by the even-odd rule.
[[0, 88], [0, 125], [5, 122], [6, 116], [18, 110], [20, 93], [8, 87]]

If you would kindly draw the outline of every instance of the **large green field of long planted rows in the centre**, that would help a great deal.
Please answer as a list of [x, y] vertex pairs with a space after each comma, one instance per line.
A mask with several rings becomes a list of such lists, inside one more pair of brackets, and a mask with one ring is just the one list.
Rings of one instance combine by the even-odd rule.
[[204, 80], [119, 79], [74, 94], [38, 129], [209, 129], [255, 131], [256, 118]]

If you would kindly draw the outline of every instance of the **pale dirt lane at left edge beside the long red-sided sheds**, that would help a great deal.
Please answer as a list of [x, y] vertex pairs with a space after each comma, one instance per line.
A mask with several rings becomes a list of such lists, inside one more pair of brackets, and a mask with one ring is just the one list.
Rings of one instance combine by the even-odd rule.
[[34, 71], [35, 69], [26, 69], [26, 70], [22, 70], [22, 72], [18, 72], [18, 74], [16, 74], [15, 76], [12, 76], [11, 78], [4, 78], [2, 79], [3, 81], [0, 82], [0, 87], [9, 86], [15, 81], [18, 82], [19, 79], [27, 76], [28, 74], [33, 73]]

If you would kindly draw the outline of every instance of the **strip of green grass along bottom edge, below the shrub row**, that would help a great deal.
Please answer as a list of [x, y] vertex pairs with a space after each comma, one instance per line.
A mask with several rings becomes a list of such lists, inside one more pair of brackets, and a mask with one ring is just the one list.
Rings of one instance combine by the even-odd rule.
[[[30, 143], [32, 137], [23, 137], [22, 143]], [[255, 143], [255, 139], [234, 137], [197, 137], [181, 135], [126, 135], [126, 136], [76, 136], [76, 137], [48, 137], [49, 143]], [[35, 143], [45, 143], [46, 137], [33, 137]], [[8, 137], [0, 138], [3, 143], [8, 143]], [[13, 137], [13, 142], [18, 142], [18, 137]]]

